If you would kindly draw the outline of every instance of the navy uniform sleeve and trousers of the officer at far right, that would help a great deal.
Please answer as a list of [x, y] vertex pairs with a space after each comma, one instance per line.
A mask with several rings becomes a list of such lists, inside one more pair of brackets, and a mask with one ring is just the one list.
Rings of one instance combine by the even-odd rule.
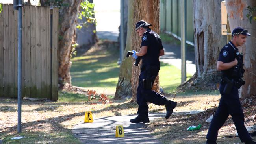
[[[221, 49], [218, 61], [229, 63], [234, 61], [237, 55], [240, 55], [238, 49], [231, 41], [229, 41], [228, 44]], [[208, 144], [210, 144], [210, 142], [216, 143], [218, 131], [221, 126], [223, 126], [229, 115], [232, 116], [232, 120], [236, 126], [236, 130], [241, 142], [248, 142], [252, 140], [244, 125], [244, 114], [238, 95], [238, 89], [241, 86], [237, 87], [236, 85], [233, 85], [229, 94], [227, 94], [224, 90], [227, 82], [224, 81], [223, 78], [226, 77], [229, 80], [233, 79], [234, 81], [238, 81], [240, 79], [238, 76], [234, 76], [232, 74], [232, 72], [234, 72], [233, 69], [234, 67], [221, 71], [222, 81], [219, 87], [221, 99], [206, 136], [207, 141], [209, 142]]]

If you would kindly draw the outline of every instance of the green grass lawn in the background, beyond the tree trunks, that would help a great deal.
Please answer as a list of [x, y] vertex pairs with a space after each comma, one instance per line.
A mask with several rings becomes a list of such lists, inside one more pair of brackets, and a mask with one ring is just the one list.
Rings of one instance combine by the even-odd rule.
[[[99, 45], [104, 46], [101, 43]], [[108, 96], [113, 96], [119, 76], [118, 57], [118, 48], [107, 47], [99, 50], [99, 47], [95, 47], [83, 55], [72, 58], [72, 85], [95, 89], [99, 93], [104, 91]], [[175, 92], [181, 83], [181, 70], [175, 66], [161, 62], [159, 75], [160, 86], [165, 93]], [[187, 79], [190, 77], [191, 74], [187, 74]]]

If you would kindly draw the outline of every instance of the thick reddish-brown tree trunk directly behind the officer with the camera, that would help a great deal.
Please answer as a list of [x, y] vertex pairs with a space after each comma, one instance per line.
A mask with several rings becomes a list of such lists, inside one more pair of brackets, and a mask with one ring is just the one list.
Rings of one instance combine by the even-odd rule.
[[[126, 49], [124, 51], [125, 55], [128, 50], [139, 51], [141, 37], [139, 37], [135, 31], [135, 22], [138, 22], [139, 20], [145, 20], [152, 24], [152, 30], [159, 33], [159, 0], [129, 0], [127, 30], [128, 39], [126, 41]], [[122, 61], [115, 98], [126, 95], [130, 96], [130, 87], [132, 86], [132, 101], [136, 101], [140, 67], [134, 66], [132, 63], [134, 63], [135, 60], [133, 59], [133, 62], [131, 62], [131, 59], [132, 58], [124, 59]], [[159, 91], [159, 77], [156, 78], [153, 89], [156, 92]]]

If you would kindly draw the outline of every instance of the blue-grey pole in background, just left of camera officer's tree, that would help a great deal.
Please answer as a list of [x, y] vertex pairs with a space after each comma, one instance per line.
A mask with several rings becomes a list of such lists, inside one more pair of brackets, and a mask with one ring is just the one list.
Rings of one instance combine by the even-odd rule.
[[119, 64], [122, 63], [124, 53], [124, 1], [120, 0], [120, 54]]

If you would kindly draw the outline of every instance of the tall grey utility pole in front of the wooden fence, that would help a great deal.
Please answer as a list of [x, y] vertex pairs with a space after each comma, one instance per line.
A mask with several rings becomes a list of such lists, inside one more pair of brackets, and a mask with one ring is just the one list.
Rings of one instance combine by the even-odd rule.
[[18, 10], [18, 133], [21, 133], [21, 66], [22, 66], [22, 0], [13, 0], [13, 9]]

